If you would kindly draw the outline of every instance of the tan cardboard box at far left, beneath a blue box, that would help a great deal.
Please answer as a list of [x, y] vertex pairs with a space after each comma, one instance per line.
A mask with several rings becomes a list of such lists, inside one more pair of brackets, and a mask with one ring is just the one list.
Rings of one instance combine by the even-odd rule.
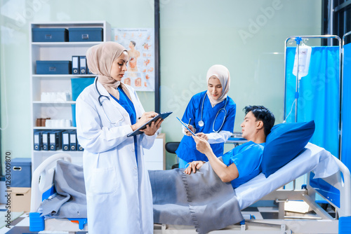
[[29, 212], [31, 188], [10, 188], [11, 212]]

